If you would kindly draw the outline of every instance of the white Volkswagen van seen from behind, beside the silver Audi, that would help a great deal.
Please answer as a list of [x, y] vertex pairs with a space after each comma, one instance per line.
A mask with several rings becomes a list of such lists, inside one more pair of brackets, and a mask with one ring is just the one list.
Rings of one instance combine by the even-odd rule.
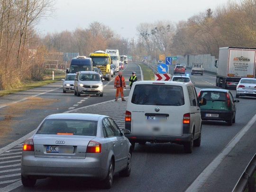
[[135, 143], [171, 142], [183, 144], [187, 153], [201, 144], [200, 105], [192, 83], [140, 81], [131, 88], [125, 128], [133, 148]]

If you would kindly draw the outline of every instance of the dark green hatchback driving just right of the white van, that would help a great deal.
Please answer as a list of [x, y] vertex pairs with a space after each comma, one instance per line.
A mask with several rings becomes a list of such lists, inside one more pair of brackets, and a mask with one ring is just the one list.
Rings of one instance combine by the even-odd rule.
[[236, 122], [236, 105], [229, 90], [201, 89], [198, 99], [206, 99], [206, 105], [200, 106], [201, 119], [211, 121], [226, 121], [228, 125]]

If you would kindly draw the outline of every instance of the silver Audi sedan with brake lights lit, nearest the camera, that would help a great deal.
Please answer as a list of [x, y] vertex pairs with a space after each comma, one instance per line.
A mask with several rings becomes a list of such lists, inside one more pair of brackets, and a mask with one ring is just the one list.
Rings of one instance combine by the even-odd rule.
[[37, 179], [56, 176], [90, 177], [111, 188], [113, 175], [129, 176], [131, 144], [108, 116], [62, 113], [46, 117], [24, 142], [21, 181], [26, 187]]

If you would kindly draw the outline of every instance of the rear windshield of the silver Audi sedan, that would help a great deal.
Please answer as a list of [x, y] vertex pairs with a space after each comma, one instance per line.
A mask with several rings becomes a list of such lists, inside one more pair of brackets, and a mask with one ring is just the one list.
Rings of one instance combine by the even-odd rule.
[[97, 121], [76, 119], [46, 119], [37, 134], [96, 136]]

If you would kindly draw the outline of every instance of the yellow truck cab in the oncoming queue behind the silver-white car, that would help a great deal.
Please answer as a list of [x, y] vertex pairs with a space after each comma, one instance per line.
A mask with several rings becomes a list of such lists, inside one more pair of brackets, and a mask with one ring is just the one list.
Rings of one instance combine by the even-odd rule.
[[100, 68], [103, 74], [103, 78], [107, 81], [110, 81], [110, 54], [106, 53], [103, 50], [96, 50], [93, 53], [90, 53], [90, 58], [92, 59], [93, 67]]

